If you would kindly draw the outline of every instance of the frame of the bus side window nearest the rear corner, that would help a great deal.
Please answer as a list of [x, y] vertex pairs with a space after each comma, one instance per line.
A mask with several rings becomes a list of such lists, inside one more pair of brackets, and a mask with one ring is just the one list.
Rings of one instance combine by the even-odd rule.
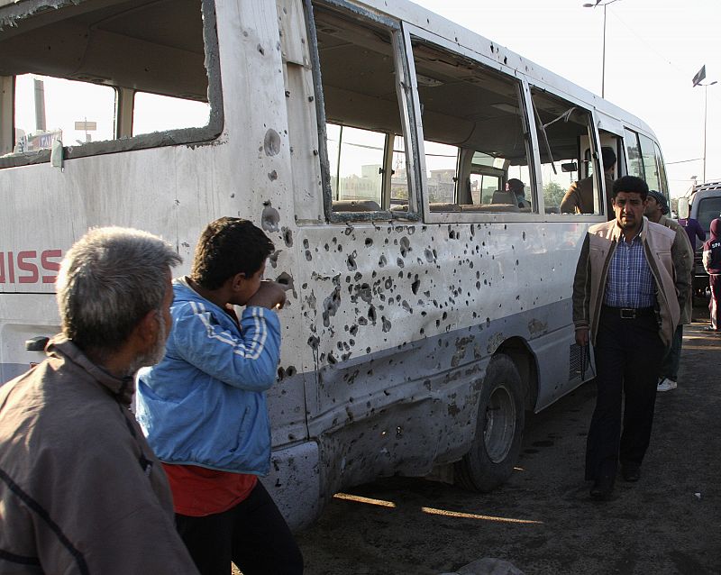
[[[398, 114], [401, 123], [402, 135], [405, 140], [406, 148], [406, 174], [408, 175], [408, 211], [390, 211], [383, 209], [383, 204], [390, 201], [390, 172], [386, 170], [383, 175], [383, 184], [381, 187], [381, 205], [380, 210], [370, 212], [333, 212], [333, 187], [331, 178], [331, 162], [328, 157], [328, 134], [326, 131], [325, 117], [325, 100], [323, 81], [321, 78], [320, 54], [318, 53], [318, 39], [315, 29], [315, 14], [313, 5], [322, 5], [330, 9], [338, 10], [345, 14], [351, 14], [357, 18], [362, 26], [363, 23], [372, 26], [381, 26], [388, 31], [391, 41], [391, 51], [393, 53], [393, 64], [397, 74], [396, 93]], [[406, 66], [406, 49], [404, 46], [404, 37], [401, 30], [401, 23], [393, 18], [389, 18], [380, 14], [372, 14], [356, 5], [350, 5], [344, 0], [304, 0], [304, 13], [306, 18], [306, 33], [308, 36], [308, 47], [311, 60], [311, 71], [313, 73], [313, 84], [315, 90], [315, 118], [318, 129], [318, 156], [321, 168], [321, 187], [323, 193], [323, 206], [325, 220], [329, 224], [342, 224], [346, 222], [372, 222], [377, 220], [410, 220], [418, 221], [420, 219], [417, 214], [417, 197], [419, 182], [416, 176], [416, 154], [417, 145], [414, 141], [414, 130], [411, 129], [414, 120], [414, 112], [410, 109], [409, 89], [407, 78], [410, 78]], [[388, 149], [388, 141], [390, 147], [393, 147], [393, 138], [386, 139], [386, 147], [383, 151], [385, 166], [388, 155], [392, 156], [393, 150]]]

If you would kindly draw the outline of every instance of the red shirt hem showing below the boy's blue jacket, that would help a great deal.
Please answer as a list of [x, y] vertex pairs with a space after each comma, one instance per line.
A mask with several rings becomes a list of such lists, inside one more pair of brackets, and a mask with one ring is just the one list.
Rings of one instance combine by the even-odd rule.
[[251, 495], [255, 475], [208, 470], [196, 465], [163, 463], [173, 492], [173, 507], [181, 516], [202, 517], [223, 513]]

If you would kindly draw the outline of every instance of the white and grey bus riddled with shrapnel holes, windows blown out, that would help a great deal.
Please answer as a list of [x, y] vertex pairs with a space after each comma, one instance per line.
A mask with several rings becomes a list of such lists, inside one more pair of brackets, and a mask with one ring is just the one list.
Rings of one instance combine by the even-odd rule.
[[[525, 411], [593, 377], [570, 295], [600, 147], [668, 189], [633, 115], [406, 0], [0, 0], [0, 26], [0, 381], [58, 331], [88, 227], [186, 271], [222, 215], [288, 287], [265, 483], [291, 525], [381, 476], [494, 488]], [[559, 213], [587, 177], [593, 213]]]

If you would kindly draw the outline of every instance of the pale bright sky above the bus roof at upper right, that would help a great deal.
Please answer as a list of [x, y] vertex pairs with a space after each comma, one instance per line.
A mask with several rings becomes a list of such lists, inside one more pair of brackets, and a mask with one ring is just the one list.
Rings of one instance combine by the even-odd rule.
[[[601, 93], [604, 9], [590, 0], [413, 1]], [[606, 99], [651, 126], [671, 196], [704, 179], [705, 92], [706, 181], [721, 179], [721, 2], [615, 0], [606, 18]], [[692, 86], [703, 65], [716, 86]]]

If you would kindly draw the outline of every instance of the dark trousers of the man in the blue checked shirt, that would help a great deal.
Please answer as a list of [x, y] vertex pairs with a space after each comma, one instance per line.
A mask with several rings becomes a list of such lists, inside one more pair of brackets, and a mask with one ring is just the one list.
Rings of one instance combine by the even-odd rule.
[[586, 443], [586, 479], [614, 478], [619, 460], [629, 467], [641, 465], [651, 439], [665, 351], [654, 315], [622, 319], [607, 308], [601, 311], [594, 348], [598, 395]]

